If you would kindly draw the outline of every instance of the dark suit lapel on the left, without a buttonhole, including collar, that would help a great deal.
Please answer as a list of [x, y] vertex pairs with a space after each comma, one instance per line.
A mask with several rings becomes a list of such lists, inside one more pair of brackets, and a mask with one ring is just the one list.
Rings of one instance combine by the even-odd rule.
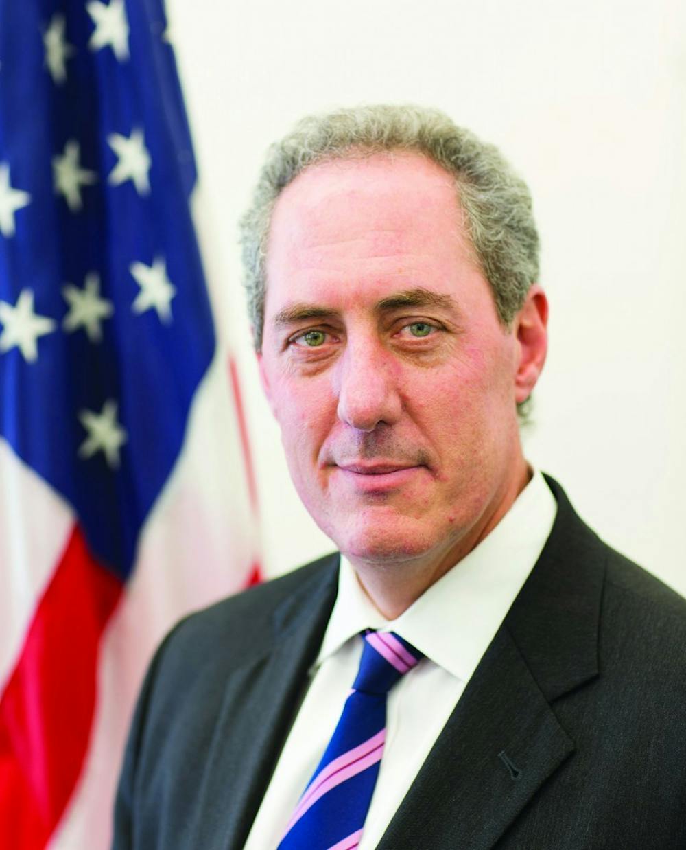
[[338, 556], [274, 616], [273, 649], [241, 666], [225, 689], [205, 780], [194, 847], [239, 850], [267, 790], [300, 706], [335, 601]]

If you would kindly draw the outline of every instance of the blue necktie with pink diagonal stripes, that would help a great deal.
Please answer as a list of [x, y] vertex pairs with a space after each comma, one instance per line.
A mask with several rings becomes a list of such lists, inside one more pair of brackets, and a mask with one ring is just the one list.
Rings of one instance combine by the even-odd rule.
[[357, 677], [278, 850], [353, 850], [384, 752], [386, 696], [424, 656], [393, 632], [364, 632]]

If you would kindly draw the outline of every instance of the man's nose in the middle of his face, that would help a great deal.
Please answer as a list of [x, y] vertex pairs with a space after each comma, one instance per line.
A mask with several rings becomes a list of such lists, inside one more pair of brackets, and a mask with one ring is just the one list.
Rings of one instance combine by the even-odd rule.
[[348, 343], [335, 377], [340, 420], [358, 431], [396, 422], [402, 408], [397, 368], [392, 354], [380, 343]]

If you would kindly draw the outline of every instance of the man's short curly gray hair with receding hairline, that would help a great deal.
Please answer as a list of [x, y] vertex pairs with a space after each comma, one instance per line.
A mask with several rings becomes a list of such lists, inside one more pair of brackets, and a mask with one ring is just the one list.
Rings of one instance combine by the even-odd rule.
[[414, 105], [360, 106], [309, 116], [267, 152], [240, 221], [245, 290], [255, 346], [262, 343], [269, 224], [278, 195], [306, 167], [335, 159], [414, 151], [455, 178], [458, 201], [498, 316], [510, 326], [538, 277], [538, 235], [526, 183], [498, 149], [443, 112]]

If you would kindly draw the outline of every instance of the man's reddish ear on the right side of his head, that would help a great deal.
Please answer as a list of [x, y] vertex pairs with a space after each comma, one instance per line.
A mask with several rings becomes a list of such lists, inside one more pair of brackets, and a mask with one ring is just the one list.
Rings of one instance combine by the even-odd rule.
[[537, 283], [531, 284], [519, 313], [515, 315], [515, 400], [526, 401], [536, 386], [548, 352], [548, 298]]

